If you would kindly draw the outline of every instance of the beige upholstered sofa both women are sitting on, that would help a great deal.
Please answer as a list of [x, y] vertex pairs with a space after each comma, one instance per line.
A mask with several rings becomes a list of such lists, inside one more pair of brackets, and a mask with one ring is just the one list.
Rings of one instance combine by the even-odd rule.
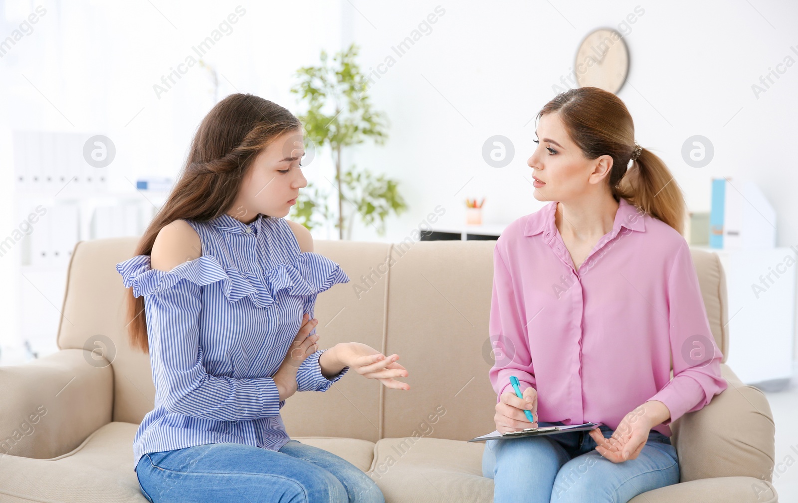
[[[128, 346], [124, 287], [114, 269], [135, 243], [77, 244], [57, 334], [61, 351], [0, 367], [0, 453], [7, 454], [0, 456], [0, 501], [146, 501], [132, 441], [155, 390], [148, 356]], [[290, 398], [282, 412], [288, 433], [369, 473], [386, 501], [492, 501], [493, 481], [481, 470], [484, 443], [465, 440], [495, 428], [488, 382], [494, 245], [317, 241], [316, 251], [351, 278], [318, 298], [321, 347], [356, 340], [400, 354], [412, 389], [347, 375], [326, 393]], [[726, 356], [721, 265], [706, 251], [693, 251], [693, 261]], [[776, 501], [768, 402], [721, 367], [729, 389], [672, 426], [681, 483], [634, 503]]]

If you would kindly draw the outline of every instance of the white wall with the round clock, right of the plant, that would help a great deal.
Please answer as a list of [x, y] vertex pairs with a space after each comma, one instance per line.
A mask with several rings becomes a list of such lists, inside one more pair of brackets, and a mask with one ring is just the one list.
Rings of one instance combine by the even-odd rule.
[[[401, 180], [410, 211], [392, 219], [389, 239], [408, 236], [437, 204], [447, 210], [445, 223], [464, 222], [466, 196], [486, 197], [486, 223], [507, 223], [540, 208], [524, 181], [531, 178], [526, 160], [534, 147], [535, 121], [527, 122], [555, 96], [552, 86], [571, 71], [585, 35], [612, 27], [626, 33], [630, 51], [628, 81], [618, 96], [634, 118], [638, 142], [666, 161], [688, 208], [709, 211], [713, 177], [749, 176], [776, 208], [778, 246], [798, 244], [792, 152], [798, 63], [780, 66], [784, 73], [758, 97], [752, 89], [784, 57], [798, 61], [796, 2], [731, 2], [720, 9], [685, 0], [616, 0], [600, 7], [436, 0], [405, 2], [401, 10], [361, 3], [361, 14], [344, 10], [350, 16], [345, 36], [363, 47], [365, 69], [385, 61], [436, 6], [445, 10], [431, 33], [397, 57], [371, 89], [391, 120], [388, 143], [362, 146], [353, 156], [358, 166]], [[619, 29], [637, 6], [644, 13]], [[496, 134], [515, 145], [506, 168], [482, 159], [484, 141]], [[681, 159], [682, 143], [697, 134], [715, 149], [704, 168]], [[355, 236], [374, 235], [361, 228]]]

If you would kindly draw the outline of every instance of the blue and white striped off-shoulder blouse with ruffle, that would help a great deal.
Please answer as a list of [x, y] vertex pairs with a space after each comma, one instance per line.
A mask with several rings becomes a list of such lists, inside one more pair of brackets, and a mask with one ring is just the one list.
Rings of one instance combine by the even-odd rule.
[[[301, 252], [286, 220], [259, 214], [244, 224], [223, 214], [186, 220], [202, 255], [171, 271], [150, 255], [117, 263], [125, 287], [144, 295], [155, 408], [133, 441], [135, 470], [144, 453], [215, 442], [279, 450], [288, 442], [285, 400], [271, 376], [318, 293], [349, 277], [323, 255]], [[311, 333], [315, 333], [312, 331]], [[298, 391], [326, 391], [316, 351], [299, 366]]]

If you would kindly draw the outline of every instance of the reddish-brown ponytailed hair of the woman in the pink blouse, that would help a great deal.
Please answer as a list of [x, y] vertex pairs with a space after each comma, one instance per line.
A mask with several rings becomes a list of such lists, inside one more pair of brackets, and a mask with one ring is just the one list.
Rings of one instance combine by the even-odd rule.
[[559, 93], [540, 109], [559, 118], [587, 159], [612, 157], [610, 191], [683, 234], [685, 198], [666, 164], [649, 149], [642, 149], [627, 172], [634, 152], [634, 122], [623, 101], [597, 87], [580, 87]]

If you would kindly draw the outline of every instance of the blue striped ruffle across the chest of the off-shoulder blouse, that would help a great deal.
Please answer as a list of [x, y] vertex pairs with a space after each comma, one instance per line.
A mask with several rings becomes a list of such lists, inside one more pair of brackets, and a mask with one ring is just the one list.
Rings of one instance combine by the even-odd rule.
[[238, 302], [250, 297], [258, 307], [271, 306], [282, 290], [287, 290], [289, 295], [313, 295], [350, 280], [338, 263], [312, 251], [301, 253], [294, 263], [273, 267], [263, 278], [235, 267], [223, 267], [212, 255], [181, 263], [172, 271], [152, 269], [150, 255], [136, 255], [117, 263], [117, 271], [122, 275], [124, 286], [133, 287], [135, 297], [168, 290], [180, 279], [200, 287], [220, 281], [227, 300]]

